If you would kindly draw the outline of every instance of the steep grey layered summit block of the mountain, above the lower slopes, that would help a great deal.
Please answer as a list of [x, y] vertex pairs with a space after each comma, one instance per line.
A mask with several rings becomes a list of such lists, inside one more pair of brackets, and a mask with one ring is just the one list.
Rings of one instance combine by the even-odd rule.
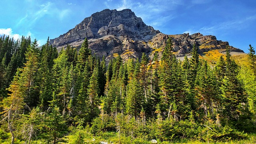
[[126, 35], [134, 38], [150, 38], [158, 34], [151, 26], [147, 26], [141, 18], [137, 17], [130, 9], [109, 10], [96, 12], [85, 18], [75, 28], [58, 38], [50, 40], [53, 46], [62, 46], [84, 38], [101, 38], [107, 35]]

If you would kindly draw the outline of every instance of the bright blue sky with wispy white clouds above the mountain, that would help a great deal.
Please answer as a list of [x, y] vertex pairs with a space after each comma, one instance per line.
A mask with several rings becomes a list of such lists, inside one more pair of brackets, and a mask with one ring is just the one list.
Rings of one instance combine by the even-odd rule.
[[131, 9], [164, 34], [200, 32], [248, 52], [256, 48], [256, 0], [0, 0], [0, 35], [40, 45], [106, 8]]

